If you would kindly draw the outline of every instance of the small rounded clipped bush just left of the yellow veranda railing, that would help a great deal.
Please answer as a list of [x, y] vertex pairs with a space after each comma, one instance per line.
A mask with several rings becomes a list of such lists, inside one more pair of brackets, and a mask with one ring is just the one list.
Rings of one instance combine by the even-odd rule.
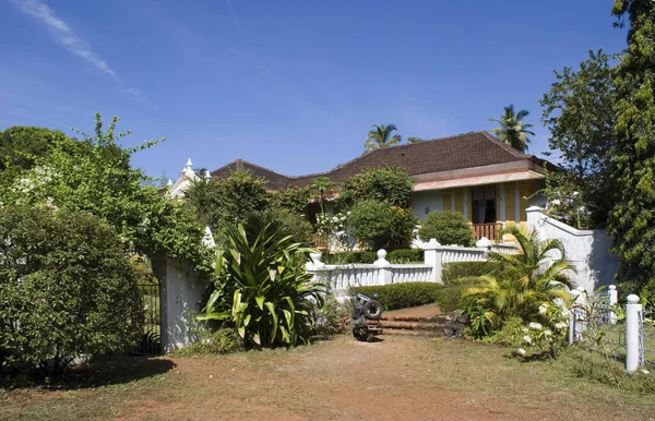
[[474, 245], [471, 225], [458, 212], [430, 212], [418, 230], [418, 237], [421, 241], [437, 239], [443, 245]]

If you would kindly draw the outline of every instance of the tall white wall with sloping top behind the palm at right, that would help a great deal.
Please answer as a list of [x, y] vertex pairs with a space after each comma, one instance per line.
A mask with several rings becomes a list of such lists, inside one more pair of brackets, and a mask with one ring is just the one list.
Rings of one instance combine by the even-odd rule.
[[598, 287], [614, 284], [619, 258], [610, 253], [611, 239], [605, 230], [575, 229], [550, 218], [537, 206], [528, 207], [526, 213], [527, 226], [537, 230], [541, 240], [559, 239], [563, 243], [567, 257], [577, 269], [577, 274], [571, 274], [577, 287], [592, 293]]

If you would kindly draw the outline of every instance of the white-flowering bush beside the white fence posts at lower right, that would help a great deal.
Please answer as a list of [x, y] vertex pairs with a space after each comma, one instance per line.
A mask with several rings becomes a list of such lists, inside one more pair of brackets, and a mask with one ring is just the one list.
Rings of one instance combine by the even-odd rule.
[[[547, 353], [557, 358], [557, 351], [567, 337], [569, 324], [567, 323], [568, 309], [547, 302], [539, 305], [540, 322], [529, 322], [521, 329], [521, 340], [534, 353]], [[538, 352], [535, 352], [538, 351]], [[520, 356], [526, 357], [525, 348], [519, 348]]]

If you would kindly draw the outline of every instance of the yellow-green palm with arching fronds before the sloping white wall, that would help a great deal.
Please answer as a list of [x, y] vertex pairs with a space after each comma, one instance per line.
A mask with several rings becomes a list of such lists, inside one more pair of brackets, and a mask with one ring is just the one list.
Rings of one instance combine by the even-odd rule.
[[540, 304], [567, 300], [567, 288], [572, 288], [567, 270], [575, 272], [560, 240], [541, 241], [536, 231], [525, 233], [515, 226], [503, 232], [514, 236], [521, 253], [489, 252], [488, 260], [500, 265], [498, 275], [483, 276], [479, 286], [464, 292], [475, 305], [490, 311], [498, 325], [512, 316], [531, 320]]

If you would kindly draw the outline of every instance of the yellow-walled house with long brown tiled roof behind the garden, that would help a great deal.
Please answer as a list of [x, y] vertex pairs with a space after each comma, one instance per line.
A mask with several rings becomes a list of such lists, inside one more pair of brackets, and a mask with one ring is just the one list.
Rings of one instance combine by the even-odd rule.
[[[275, 191], [310, 187], [319, 177], [327, 177], [338, 185], [365, 169], [395, 166], [415, 182], [412, 207], [416, 217], [424, 219], [432, 211], [461, 212], [471, 220], [477, 238], [498, 241], [504, 225], [525, 225], [525, 209], [544, 206], [545, 199], [538, 191], [545, 185], [547, 165], [480, 131], [376, 149], [326, 172], [293, 177], [237, 159], [212, 171], [211, 177], [246, 169], [265, 179], [269, 189]], [[180, 194], [194, 177], [189, 161], [170, 194]]]

